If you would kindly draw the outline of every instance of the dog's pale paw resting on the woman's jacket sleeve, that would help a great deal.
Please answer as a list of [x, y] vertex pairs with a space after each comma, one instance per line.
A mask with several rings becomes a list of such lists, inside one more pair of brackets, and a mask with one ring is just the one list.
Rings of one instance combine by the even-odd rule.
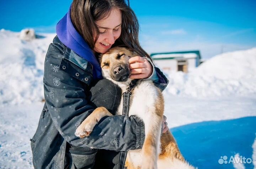
[[89, 136], [92, 132], [92, 129], [97, 123], [82, 123], [75, 132], [75, 135], [78, 136], [79, 138], [84, 138], [86, 136]]

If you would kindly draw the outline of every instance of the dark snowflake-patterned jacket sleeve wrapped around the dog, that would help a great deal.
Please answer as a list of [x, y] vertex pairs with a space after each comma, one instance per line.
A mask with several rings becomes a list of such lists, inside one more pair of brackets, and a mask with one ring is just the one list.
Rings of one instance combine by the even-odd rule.
[[[135, 116], [104, 117], [90, 136], [79, 139], [76, 128], [90, 115], [94, 107], [89, 105], [88, 84], [60, 70], [60, 57], [65, 49], [57, 44], [49, 46], [44, 65], [44, 97], [58, 132], [71, 145], [105, 150], [128, 151], [141, 148], [145, 138], [144, 124]], [[65, 69], [75, 70], [70, 64]], [[76, 68], [78, 69], [78, 68]], [[80, 74], [85, 73], [81, 72]], [[92, 77], [90, 77], [92, 78]], [[88, 81], [88, 79], [87, 79]]]

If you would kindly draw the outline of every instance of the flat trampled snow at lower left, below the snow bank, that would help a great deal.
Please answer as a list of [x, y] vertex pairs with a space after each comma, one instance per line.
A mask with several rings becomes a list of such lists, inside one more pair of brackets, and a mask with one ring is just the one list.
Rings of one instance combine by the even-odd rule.
[[5, 106], [0, 111], [0, 169], [33, 168], [30, 139], [43, 103]]

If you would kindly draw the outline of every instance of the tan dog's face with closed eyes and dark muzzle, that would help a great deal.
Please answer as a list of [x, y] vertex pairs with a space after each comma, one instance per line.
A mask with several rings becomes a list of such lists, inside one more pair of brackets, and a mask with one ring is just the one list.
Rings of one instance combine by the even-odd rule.
[[116, 81], [130, 81], [129, 58], [137, 56], [133, 51], [124, 47], [113, 47], [99, 57], [103, 77]]

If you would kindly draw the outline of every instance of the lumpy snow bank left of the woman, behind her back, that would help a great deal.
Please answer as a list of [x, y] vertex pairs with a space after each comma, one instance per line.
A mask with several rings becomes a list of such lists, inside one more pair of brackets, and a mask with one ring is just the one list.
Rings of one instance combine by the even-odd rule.
[[20, 33], [0, 30], [0, 105], [43, 99], [43, 65], [54, 34], [23, 41]]

